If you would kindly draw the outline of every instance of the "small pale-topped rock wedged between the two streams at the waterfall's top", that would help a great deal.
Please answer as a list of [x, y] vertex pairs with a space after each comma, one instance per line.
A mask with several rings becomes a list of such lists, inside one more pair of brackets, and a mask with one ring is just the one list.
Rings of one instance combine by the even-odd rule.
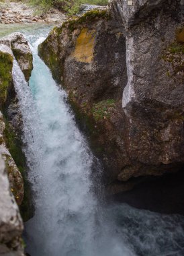
[[30, 46], [28, 45], [28, 41], [24, 38], [23, 34], [10, 34], [9, 36], [1, 38], [0, 43], [6, 44], [9, 46], [9, 48], [11, 48], [15, 59], [19, 63], [19, 66], [26, 77], [26, 81], [28, 81], [33, 69], [33, 57]]

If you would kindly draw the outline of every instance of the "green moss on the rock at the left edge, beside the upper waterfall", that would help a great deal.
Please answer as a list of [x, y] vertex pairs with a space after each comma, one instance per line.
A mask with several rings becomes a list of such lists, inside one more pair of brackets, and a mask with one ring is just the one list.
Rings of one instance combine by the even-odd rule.
[[7, 90], [11, 85], [13, 57], [9, 53], [0, 52], [0, 104], [7, 99]]

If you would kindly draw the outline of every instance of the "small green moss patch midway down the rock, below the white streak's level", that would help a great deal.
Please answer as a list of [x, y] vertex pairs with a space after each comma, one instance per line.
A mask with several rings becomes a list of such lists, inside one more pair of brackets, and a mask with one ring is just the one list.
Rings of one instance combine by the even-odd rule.
[[99, 121], [100, 119], [107, 119], [110, 116], [109, 110], [115, 107], [115, 100], [102, 100], [97, 104], [93, 104], [92, 113], [95, 121]]

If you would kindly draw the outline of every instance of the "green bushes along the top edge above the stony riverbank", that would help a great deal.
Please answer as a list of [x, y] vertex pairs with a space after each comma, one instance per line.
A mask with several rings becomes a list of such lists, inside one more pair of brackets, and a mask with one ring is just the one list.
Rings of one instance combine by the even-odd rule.
[[57, 7], [73, 15], [79, 11], [81, 4], [88, 3], [92, 5], [107, 5], [108, 0], [30, 0], [32, 5], [38, 6], [38, 12], [47, 13], [51, 7]]

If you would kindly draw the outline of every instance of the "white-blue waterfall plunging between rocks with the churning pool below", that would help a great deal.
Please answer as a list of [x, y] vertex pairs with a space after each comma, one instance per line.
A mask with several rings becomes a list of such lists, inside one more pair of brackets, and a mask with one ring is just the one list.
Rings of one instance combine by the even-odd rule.
[[27, 36], [34, 53], [30, 87], [13, 63], [35, 203], [34, 218], [26, 223], [26, 250], [31, 256], [184, 255], [182, 216], [103, 205], [93, 195], [93, 155], [65, 92], [38, 57], [40, 32]]

